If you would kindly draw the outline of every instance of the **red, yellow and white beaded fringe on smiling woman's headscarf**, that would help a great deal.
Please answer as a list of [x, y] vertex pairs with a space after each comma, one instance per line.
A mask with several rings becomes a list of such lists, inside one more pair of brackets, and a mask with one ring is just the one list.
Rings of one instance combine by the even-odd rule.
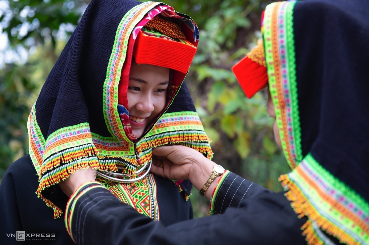
[[[190, 132], [188, 132], [188, 130], [183, 130], [183, 132], [166, 132], [148, 137], [137, 147], [140, 156], [139, 164], [134, 157], [122, 157], [122, 160], [127, 162], [127, 167], [124, 172], [134, 174], [136, 167], [151, 161], [151, 148], [167, 144], [182, 144], [184, 146], [194, 148], [195, 150], [206, 154], [207, 158], [211, 159], [213, 157], [213, 151], [211, 150], [209, 142], [210, 139], [206, 134], [196, 130]], [[116, 160], [110, 159], [104, 161], [106, 157], [101, 155], [97, 157], [96, 152], [97, 149], [93, 144], [86, 144], [58, 152], [46, 159], [44, 164], [42, 164], [39, 186], [36, 194], [44, 200], [47, 206], [54, 209], [54, 218], [60, 217], [62, 211], [42, 195], [45, 188], [68, 178], [70, 174], [73, 174], [78, 169], [91, 167], [101, 171], [117, 170]], [[180, 186], [179, 190], [183, 191]], [[189, 195], [186, 194], [185, 198], [188, 200]]]

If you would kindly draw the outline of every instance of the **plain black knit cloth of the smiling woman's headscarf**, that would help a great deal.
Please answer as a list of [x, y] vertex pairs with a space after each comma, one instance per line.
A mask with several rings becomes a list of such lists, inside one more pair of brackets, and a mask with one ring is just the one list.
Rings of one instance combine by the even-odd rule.
[[90, 122], [92, 132], [111, 136], [102, 107], [106, 68], [119, 22], [139, 3], [109, 0], [88, 5], [37, 99], [36, 118], [45, 139], [83, 122]]

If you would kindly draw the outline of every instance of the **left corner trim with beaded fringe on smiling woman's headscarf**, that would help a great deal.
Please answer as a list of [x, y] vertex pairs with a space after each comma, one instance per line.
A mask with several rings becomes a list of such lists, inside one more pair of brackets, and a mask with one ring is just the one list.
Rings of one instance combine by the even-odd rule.
[[35, 115], [34, 104], [27, 126], [30, 136], [29, 153], [39, 176], [36, 194], [54, 210], [54, 218], [58, 218], [62, 211], [42, 195], [45, 188], [60, 182], [80, 168], [92, 167], [108, 170], [116, 169], [116, 167], [99, 163], [88, 123], [65, 127], [50, 134], [45, 140]]

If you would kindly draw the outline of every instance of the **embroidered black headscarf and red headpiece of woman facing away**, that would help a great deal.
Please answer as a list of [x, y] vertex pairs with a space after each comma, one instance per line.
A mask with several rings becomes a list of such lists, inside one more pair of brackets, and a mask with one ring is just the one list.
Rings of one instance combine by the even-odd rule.
[[[359, 0], [272, 3], [263, 43], [233, 68], [248, 97], [269, 81], [293, 169], [280, 181], [295, 212], [308, 217], [308, 244], [329, 244], [321, 230], [369, 244], [368, 13]], [[245, 76], [252, 62], [256, 73]]]

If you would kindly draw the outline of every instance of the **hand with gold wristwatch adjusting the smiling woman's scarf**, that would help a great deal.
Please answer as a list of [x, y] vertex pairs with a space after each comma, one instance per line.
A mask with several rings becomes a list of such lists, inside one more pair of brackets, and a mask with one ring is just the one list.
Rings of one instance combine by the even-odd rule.
[[[181, 145], [157, 147], [152, 149], [152, 154], [151, 172], [168, 179], [189, 179], [197, 190], [201, 190], [214, 166], [217, 165], [200, 152]], [[205, 192], [208, 199], [213, 193], [218, 178]]]

